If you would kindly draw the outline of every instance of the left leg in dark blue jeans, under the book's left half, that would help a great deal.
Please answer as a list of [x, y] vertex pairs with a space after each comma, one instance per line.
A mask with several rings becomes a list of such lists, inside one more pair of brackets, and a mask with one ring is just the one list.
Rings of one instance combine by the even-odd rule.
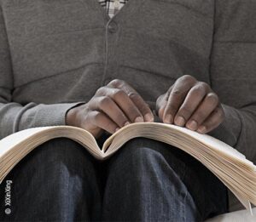
[[[86, 164], [85, 164], [86, 162]], [[96, 219], [101, 211], [95, 159], [70, 139], [53, 139], [27, 155], [7, 176], [12, 180], [9, 220]], [[87, 212], [87, 209], [90, 212]]]

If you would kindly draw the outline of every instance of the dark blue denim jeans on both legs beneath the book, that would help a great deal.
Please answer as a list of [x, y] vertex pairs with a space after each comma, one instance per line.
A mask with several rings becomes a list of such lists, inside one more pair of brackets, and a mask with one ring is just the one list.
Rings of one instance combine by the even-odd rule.
[[70, 139], [52, 139], [19, 162], [0, 191], [0, 220], [191, 222], [227, 212], [226, 188], [207, 168], [143, 138], [105, 162]]

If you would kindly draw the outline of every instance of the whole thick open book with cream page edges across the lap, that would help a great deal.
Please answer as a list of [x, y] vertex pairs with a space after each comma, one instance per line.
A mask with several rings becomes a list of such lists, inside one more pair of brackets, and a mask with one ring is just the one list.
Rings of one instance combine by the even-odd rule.
[[160, 140], [189, 153], [226, 185], [247, 209], [256, 205], [256, 166], [240, 152], [209, 135], [198, 134], [160, 122], [132, 123], [111, 135], [102, 146], [82, 128], [68, 126], [29, 128], [0, 140], [0, 182], [30, 151], [49, 139], [66, 137], [83, 145], [91, 155], [104, 160], [129, 139], [145, 137]]

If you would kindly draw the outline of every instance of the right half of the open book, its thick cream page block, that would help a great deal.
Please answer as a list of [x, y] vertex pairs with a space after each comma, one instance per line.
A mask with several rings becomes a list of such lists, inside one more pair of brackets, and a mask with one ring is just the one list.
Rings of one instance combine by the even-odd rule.
[[138, 122], [121, 128], [103, 145], [111, 157], [126, 141], [137, 137], [159, 140], [187, 152], [217, 175], [246, 208], [256, 203], [256, 166], [239, 151], [207, 134], [156, 122]]

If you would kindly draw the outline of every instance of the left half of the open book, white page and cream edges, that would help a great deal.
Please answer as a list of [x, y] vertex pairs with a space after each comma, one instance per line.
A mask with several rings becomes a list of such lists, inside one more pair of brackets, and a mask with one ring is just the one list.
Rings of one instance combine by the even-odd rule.
[[0, 140], [0, 183], [23, 157], [44, 142], [68, 138], [81, 144], [90, 154], [102, 160], [102, 151], [90, 132], [69, 126], [28, 128]]

